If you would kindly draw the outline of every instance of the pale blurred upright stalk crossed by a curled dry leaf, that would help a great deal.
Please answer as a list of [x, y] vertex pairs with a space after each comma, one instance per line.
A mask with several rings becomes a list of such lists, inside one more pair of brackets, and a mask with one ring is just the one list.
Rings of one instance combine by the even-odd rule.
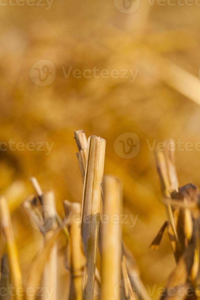
[[[44, 218], [44, 244], [54, 237], [54, 225], [56, 222], [56, 207], [54, 200], [54, 193], [50, 191], [43, 194], [43, 215]], [[43, 299], [46, 300], [51, 295], [49, 300], [57, 299], [57, 243], [50, 249], [49, 258], [45, 264], [43, 272], [43, 286], [45, 290], [43, 292]]]

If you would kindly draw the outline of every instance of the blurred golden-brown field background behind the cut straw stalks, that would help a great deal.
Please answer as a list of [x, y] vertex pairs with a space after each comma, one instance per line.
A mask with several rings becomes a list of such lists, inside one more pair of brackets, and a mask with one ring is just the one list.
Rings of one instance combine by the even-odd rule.
[[[1, 3], [7, 4], [0, 9], [0, 139], [54, 142], [50, 155], [0, 151], [1, 193], [9, 201], [24, 276], [41, 240], [20, 208], [32, 193], [29, 177], [36, 176], [43, 190], [54, 189], [60, 215], [63, 200], [81, 202], [73, 132], [84, 129], [87, 137], [106, 139], [105, 173], [123, 181], [124, 213], [138, 215], [133, 228], [130, 222], [123, 225], [124, 241], [143, 282], [162, 286], [175, 262], [167, 234], [159, 250], [148, 248], [166, 213], [146, 139], [151, 144], [154, 139], [200, 139], [200, 6], [141, 1], [135, 12], [123, 13], [112, 0], [54, 0], [48, 10], [44, 1], [44, 6]], [[41, 60], [52, 61], [56, 69], [55, 80], [46, 86], [30, 75]], [[62, 67], [69, 66], [138, 69], [138, 74], [134, 82], [110, 76], [67, 79]], [[124, 159], [114, 141], [129, 132], [138, 135], [140, 151]], [[200, 185], [199, 151], [176, 151], [176, 167], [180, 185]], [[60, 253], [62, 261], [62, 246]], [[59, 282], [64, 282], [66, 271], [59, 270]]]

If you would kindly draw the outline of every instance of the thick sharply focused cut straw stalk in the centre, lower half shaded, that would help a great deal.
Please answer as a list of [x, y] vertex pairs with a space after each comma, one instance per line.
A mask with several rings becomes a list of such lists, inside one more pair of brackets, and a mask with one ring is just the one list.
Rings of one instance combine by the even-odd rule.
[[81, 233], [87, 259], [83, 279], [84, 300], [93, 299], [105, 148], [104, 139], [89, 137], [81, 214]]

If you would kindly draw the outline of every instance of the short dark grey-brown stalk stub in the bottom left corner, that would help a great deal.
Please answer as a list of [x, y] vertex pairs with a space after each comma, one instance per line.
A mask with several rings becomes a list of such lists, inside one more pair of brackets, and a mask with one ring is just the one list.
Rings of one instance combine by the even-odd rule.
[[1, 261], [1, 280], [0, 280], [0, 290], [4, 291], [4, 293], [1, 292], [0, 300], [11, 299], [9, 287], [10, 287], [10, 272], [8, 266], [8, 257], [7, 254], [4, 253]]

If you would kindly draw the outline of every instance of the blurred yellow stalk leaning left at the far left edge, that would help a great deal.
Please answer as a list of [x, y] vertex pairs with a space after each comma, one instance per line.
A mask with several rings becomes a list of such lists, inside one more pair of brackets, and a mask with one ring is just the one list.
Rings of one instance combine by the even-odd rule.
[[[22, 275], [18, 261], [17, 247], [13, 235], [9, 207], [4, 196], [0, 196], [0, 217], [2, 232], [5, 238], [6, 252], [8, 255], [11, 283], [13, 287], [15, 287], [16, 291], [17, 288], [22, 288]], [[20, 293], [16, 293], [15, 298], [17, 300], [21, 300], [23, 296]]]

